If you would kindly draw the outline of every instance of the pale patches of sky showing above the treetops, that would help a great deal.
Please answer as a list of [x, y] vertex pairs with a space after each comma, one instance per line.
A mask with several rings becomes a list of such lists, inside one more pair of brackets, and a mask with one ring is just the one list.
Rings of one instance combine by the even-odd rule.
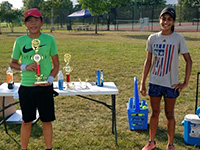
[[[2, 1], [8, 1], [10, 4], [13, 5], [13, 8], [21, 8], [23, 6], [22, 0], [0, 0], [0, 3], [2, 3]], [[74, 3], [77, 3], [77, 0], [71, 0]], [[167, 4], [177, 4], [177, 0], [166, 0]]]

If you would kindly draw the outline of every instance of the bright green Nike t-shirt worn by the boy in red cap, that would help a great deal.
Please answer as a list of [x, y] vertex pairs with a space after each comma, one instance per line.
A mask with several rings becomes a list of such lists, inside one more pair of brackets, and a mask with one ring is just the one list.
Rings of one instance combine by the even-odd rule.
[[[53, 36], [41, 33], [37, 38], [40, 40], [38, 54], [42, 57], [40, 60], [40, 73], [43, 77], [48, 78], [51, 70], [51, 57], [58, 54], [57, 45]], [[32, 49], [32, 40], [28, 35], [21, 36], [16, 39], [12, 58], [16, 60], [21, 59], [21, 64], [29, 65], [34, 62], [33, 56], [35, 51]], [[33, 86], [36, 82], [36, 71], [22, 71], [21, 85]]]

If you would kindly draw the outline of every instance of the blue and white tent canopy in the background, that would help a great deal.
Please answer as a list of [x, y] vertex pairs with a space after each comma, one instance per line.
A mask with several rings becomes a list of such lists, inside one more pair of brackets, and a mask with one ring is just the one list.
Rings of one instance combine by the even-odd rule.
[[87, 18], [87, 17], [92, 17], [90, 11], [87, 9], [76, 11], [67, 16], [67, 18]]

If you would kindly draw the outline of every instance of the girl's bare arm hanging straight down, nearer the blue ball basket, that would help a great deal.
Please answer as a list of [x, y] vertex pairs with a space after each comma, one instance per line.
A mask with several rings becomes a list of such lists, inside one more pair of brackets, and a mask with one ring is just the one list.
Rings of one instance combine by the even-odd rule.
[[147, 95], [145, 82], [146, 82], [146, 78], [147, 78], [147, 75], [148, 75], [150, 67], [151, 67], [151, 61], [152, 61], [152, 53], [147, 52], [146, 60], [145, 60], [145, 63], [144, 63], [144, 69], [143, 69], [143, 73], [142, 73], [142, 80], [141, 80], [141, 84], [140, 84], [140, 93], [143, 96]]

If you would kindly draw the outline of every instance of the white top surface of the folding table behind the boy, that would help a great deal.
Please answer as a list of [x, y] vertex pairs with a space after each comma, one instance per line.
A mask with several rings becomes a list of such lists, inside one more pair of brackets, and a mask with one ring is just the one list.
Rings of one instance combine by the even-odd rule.
[[[64, 84], [65, 85], [65, 84]], [[103, 87], [99, 87], [94, 83], [85, 82], [71, 82], [70, 89], [59, 90], [58, 83], [54, 82], [54, 90], [59, 93], [59, 95], [115, 95], [119, 93], [114, 82], [104, 82]], [[14, 96], [18, 95], [18, 88], [20, 83], [15, 83], [13, 89], [8, 89], [7, 83], [0, 85], [0, 96]]]

